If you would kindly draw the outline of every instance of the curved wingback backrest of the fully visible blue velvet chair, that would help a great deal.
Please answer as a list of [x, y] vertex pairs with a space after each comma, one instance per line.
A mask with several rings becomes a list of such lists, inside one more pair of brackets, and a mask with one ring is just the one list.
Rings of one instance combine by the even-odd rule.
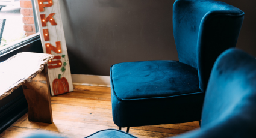
[[205, 92], [217, 57], [235, 47], [243, 11], [224, 2], [176, 0], [173, 33], [179, 61], [198, 69], [199, 88]]

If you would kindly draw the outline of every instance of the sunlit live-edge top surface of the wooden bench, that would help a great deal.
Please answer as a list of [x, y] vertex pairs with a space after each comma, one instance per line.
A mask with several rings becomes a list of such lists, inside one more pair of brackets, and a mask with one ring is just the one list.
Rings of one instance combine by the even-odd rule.
[[0, 63], [0, 100], [39, 74], [54, 55], [22, 52]]

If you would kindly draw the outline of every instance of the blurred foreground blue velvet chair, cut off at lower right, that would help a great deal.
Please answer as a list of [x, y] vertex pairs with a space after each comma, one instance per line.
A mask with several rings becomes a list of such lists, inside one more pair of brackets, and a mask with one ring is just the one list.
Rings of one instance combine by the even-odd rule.
[[[226, 50], [219, 56], [211, 72], [201, 128], [178, 137], [256, 137], [255, 128], [256, 59], [242, 50]], [[134, 137], [120, 130], [102, 130], [89, 137], [124, 136]]]

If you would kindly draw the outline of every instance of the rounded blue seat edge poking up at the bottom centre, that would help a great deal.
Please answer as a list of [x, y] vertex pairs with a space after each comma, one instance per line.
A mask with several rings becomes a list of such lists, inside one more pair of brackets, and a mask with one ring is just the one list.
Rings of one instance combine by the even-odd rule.
[[88, 138], [96, 138], [96, 137], [101, 137], [101, 138], [136, 138], [135, 136], [125, 133], [121, 130], [114, 130], [114, 129], [108, 129], [108, 130], [101, 130], [98, 131], [94, 134], [91, 134], [90, 136], [87, 136]]

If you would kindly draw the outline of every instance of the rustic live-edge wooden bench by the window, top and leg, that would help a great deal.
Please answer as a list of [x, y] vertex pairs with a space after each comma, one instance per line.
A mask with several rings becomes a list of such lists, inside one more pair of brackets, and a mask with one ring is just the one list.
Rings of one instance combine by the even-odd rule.
[[29, 121], [52, 123], [47, 63], [53, 55], [22, 52], [0, 63], [0, 100], [22, 85]]

